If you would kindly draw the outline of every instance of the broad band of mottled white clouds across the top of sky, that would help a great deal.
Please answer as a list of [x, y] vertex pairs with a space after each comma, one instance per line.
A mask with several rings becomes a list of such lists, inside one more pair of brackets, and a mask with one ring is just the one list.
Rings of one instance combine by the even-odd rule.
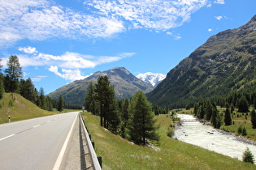
[[1, 0], [0, 47], [23, 39], [108, 38], [138, 28], [167, 31], [210, 4], [207, 0], [86, 0], [81, 5], [84, 10], [74, 11], [54, 1]]

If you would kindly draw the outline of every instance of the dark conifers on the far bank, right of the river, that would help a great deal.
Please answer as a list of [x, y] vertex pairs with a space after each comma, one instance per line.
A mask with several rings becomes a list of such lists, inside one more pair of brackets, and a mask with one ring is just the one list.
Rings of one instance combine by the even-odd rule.
[[[226, 108], [223, 114], [217, 110], [217, 105]], [[256, 128], [256, 92], [232, 92], [227, 97], [201, 99], [194, 104], [194, 114], [198, 118], [204, 118], [215, 128], [220, 128], [221, 125], [232, 125], [232, 113], [237, 108], [240, 113], [248, 113], [249, 106], [253, 106], [250, 112], [253, 128]], [[242, 133], [241, 133], [242, 134]]]

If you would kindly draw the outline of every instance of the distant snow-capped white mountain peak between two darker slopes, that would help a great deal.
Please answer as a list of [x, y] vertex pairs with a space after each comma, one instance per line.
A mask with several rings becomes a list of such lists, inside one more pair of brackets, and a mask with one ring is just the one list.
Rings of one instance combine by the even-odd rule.
[[166, 78], [166, 76], [166, 74], [147, 72], [145, 74], [138, 74], [136, 77], [145, 83], [149, 83], [153, 87], [156, 87], [158, 83], [161, 83], [163, 79]]

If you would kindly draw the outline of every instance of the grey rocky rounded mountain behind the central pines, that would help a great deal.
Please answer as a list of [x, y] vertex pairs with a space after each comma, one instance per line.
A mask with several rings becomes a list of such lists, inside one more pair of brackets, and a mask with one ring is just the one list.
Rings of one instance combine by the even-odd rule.
[[62, 95], [66, 104], [82, 105], [85, 100], [85, 93], [89, 82], [93, 81], [93, 83], [97, 83], [98, 77], [104, 75], [107, 75], [111, 84], [114, 85], [115, 96], [117, 98], [131, 97], [138, 90], [142, 90], [145, 93], [153, 90], [150, 84], [143, 82], [141, 79], [137, 79], [137, 77], [124, 67], [115, 67], [111, 70], [95, 72], [86, 79], [69, 83], [50, 93], [48, 96], [52, 99], [58, 99], [59, 95]]

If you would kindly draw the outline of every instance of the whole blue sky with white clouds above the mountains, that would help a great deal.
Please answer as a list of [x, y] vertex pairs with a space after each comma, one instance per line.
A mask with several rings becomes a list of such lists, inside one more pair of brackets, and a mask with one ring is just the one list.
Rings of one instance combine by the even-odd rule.
[[[96, 71], [167, 74], [254, 15], [255, 0], [0, 0], [0, 57], [46, 94]], [[3, 67], [2, 70], [5, 70]]]

